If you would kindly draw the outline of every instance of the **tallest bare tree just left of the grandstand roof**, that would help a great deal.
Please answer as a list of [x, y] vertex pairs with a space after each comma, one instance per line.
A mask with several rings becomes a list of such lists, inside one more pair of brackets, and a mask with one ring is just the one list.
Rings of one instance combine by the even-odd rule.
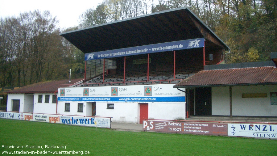
[[31, 68], [34, 69], [36, 81], [42, 80], [47, 62], [53, 58], [53, 47], [56, 46], [56, 17], [52, 17], [49, 11], [30, 12], [30, 58]]

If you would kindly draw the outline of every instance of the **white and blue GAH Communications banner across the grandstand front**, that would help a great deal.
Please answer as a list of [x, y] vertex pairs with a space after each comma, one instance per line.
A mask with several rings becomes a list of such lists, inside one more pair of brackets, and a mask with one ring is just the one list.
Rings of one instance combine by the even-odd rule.
[[59, 88], [58, 101], [85, 102], [185, 102], [175, 84]]

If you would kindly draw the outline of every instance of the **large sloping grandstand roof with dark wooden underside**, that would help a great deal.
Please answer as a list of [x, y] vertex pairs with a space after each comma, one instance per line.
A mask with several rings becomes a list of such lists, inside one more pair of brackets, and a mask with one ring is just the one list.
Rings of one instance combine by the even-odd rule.
[[205, 46], [229, 47], [187, 7], [104, 23], [60, 34], [84, 53], [205, 38]]

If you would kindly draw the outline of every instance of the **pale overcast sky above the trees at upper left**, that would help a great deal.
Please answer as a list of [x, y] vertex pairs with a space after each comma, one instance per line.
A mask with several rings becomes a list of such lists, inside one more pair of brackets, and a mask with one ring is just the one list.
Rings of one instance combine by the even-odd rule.
[[79, 16], [96, 8], [103, 0], [0, 0], [0, 17], [18, 17], [20, 12], [48, 10], [59, 20], [61, 29], [78, 25]]

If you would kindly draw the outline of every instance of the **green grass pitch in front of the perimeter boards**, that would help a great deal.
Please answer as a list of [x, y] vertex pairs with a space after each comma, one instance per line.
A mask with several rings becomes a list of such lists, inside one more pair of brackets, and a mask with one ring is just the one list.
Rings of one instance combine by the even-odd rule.
[[[277, 140], [171, 133], [125, 132], [110, 129], [96, 129], [94, 127], [10, 119], [0, 119], [0, 135], [0, 155], [5, 155], [2, 154], [2, 151], [65, 151], [64, 149], [45, 149], [45, 145], [66, 145], [66, 151], [89, 151], [90, 154], [83, 153], [83, 155], [96, 156], [277, 155]], [[2, 149], [2, 145], [41, 145], [43, 149]]]

